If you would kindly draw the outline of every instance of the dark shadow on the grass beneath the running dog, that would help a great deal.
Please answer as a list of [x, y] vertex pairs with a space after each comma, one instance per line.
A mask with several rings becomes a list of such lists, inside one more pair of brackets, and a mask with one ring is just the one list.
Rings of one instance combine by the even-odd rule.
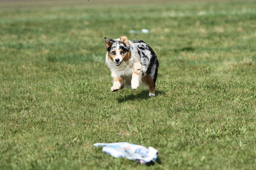
[[[164, 95], [165, 93], [163, 91], [156, 90], [155, 94], [156, 94], [156, 96], [154, 96], [154, 97], [157, 97], [158, 95]], [[123, 103], [125, 101], [130, 101], [130, 100], [148, 100], [148, 99], [151, 99], [152, 97], [148, 96], [147, 90], [143, 90], [137, 94], [130, 94], [127, 96], [118, 97], [117, 100], [119, 103]]]

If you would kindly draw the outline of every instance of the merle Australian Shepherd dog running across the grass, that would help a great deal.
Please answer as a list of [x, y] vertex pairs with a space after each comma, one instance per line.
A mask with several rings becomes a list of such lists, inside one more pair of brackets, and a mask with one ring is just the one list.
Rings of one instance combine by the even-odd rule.
[[155, 96], [159, 62], [152, 48], [142, 40], [131, 42], [126, 36], [115, 40], [104, 37], [104, 40], [106, 65], [113, 78], [111, 90], [126, 86], [135, 90], [142, 84], [149, 87], [149, 96]]

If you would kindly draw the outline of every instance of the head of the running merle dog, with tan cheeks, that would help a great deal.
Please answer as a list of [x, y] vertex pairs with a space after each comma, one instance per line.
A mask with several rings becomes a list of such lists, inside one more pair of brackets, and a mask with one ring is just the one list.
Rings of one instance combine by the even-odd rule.
[[104, 37], [106, 50], [109, 59], [115, 62], [116, 66], [120, 66], [123, 61], [129, 61], [131, 58], [130, 44], [126, 36], [112, 40]]

